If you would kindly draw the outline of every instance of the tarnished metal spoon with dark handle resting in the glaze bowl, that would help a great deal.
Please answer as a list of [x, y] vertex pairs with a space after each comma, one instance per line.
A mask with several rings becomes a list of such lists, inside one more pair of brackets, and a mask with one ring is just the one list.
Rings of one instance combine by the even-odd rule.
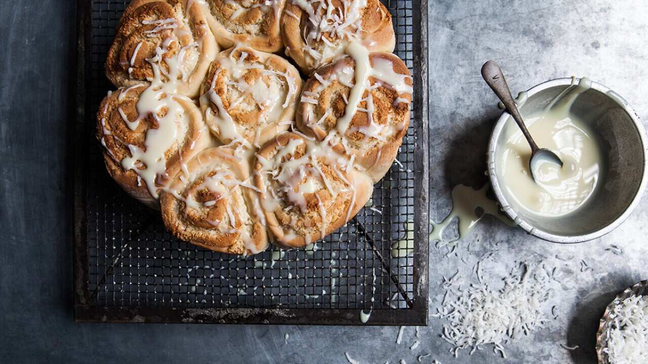
[[509, 89], [509, 85], [506, 84], [506, 79], [504, 78], [500, 66], [493, 61], [484, 63], [484, 65], [481, 66], [481, 76], [484, 78], [486, 83], [491, 86], [495, 95], [502, 100], [502, 104], [504, 104], [507, 111], [509, 111], [509, 114], [511, 114], [515, 122], [518, 124], [520, 130], [522, 130], [522, 134], [524, 134], [527, 142], [529, 142], [529, 146], [531, 146], [529, 170], [531, 170], [533, 181], [536, 181], [536, 177], [539, 176], [538, 171], [540, 170], [540, 166], [544, 165], [544, 163], [553, 163], [562, 168], [562, 161], [558, 155], [547, 148], [539, 148], [538, 144], [535, 144], [535, 141], [533, 141], [533, 137], [531, 137], [529, 130], [527, 130], [526, 125], [524, 124], [524, 120], [522, 120], [522, 115], [520, 115], [520, 111], [518, 111], [515, 100], [513, 100], [511, 90]]

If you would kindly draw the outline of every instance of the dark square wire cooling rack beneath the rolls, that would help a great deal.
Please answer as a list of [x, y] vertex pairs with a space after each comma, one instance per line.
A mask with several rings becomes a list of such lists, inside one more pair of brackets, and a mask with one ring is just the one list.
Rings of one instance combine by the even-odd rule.
[[[105, 171], [94, 120], [115, 89], [104, 62], [127, 3], [78, 0], [75, 321], [361, 324], [360, 310], [372, 310], [368, 324], [427, 324], [426, 0], [384, 0], [414, 95], [399, 163], [375, 185], [373, 205], [310, 249], [248, 258], [173, 238], [159, 213]], [[413, 255], [392, 258], [391, 245], [402, 239], [413, 243]]]

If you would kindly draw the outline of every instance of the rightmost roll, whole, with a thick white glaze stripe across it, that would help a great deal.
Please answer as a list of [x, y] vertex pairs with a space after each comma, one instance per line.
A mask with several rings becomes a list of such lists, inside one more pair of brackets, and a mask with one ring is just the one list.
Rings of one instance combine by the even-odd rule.
[[389, 170], [410, 124], [412, 80], [400, 58], [370, 53], [358, 43], [351, 56], [318, 69], [304, 85], [295, 123], [334, 144], [375, 182]]

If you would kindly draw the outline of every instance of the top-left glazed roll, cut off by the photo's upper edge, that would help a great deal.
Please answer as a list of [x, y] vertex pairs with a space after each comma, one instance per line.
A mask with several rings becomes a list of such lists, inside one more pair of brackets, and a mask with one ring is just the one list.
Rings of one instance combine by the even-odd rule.
[[108, 51], [106, 76], [116, 87], [161, 78], [176, 93], [197, 96], [218, 52], [205, 13], [197, 1], [133, 0]]

